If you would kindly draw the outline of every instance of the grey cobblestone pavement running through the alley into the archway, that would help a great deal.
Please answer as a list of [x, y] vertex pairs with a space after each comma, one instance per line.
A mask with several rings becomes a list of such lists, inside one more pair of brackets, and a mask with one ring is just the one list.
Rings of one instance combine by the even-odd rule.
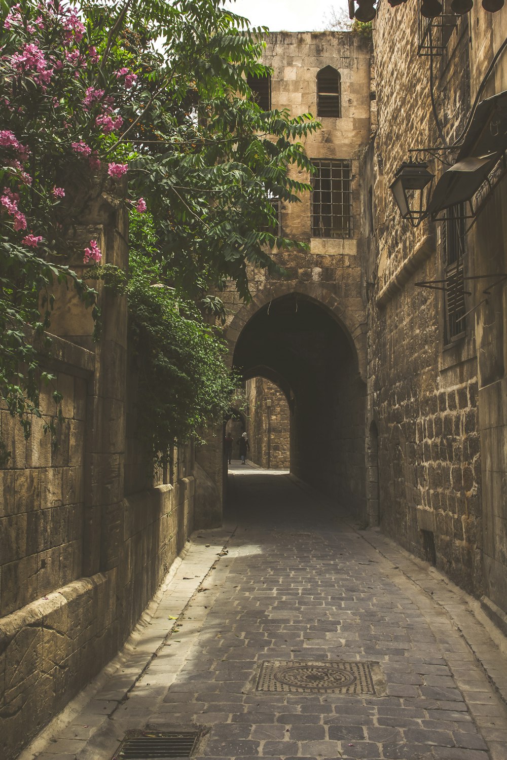
[[[154, 616], [151, 654], [147, 626], [141, 653], [43, 760], [106, 760], [126, 730], [146, 727], [199, 727], [200, 758], [505, 760], [507, 660], [471, 615], [473, 600], [286, 474], [236, 466], [232, 480], [230, 532], [215, 531], [211, 546], [196, 537]], [[312, 665], [261, 674], [263, 663], [280, 671], [290, 661]], [[345, 692], [315, 691], [323, 663]], [[341, 663], [370, 663], [372, 680]], [[280, 690], [301, 676], [313, 690]]]

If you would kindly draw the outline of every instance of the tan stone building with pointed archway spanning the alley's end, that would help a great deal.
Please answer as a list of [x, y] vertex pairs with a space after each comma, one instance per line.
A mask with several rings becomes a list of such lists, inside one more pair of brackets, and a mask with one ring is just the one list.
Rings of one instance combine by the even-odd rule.
[[[287, 277], [252, 272], [252, 302], [231, 288], [225, 335], [244, 378], [261, 377], [290, 407], [290, 467], [308, 483], [363, 511], [366, 505], [366, 294], [360, 159], [370, 137], [368, 40], [344, 32], [271, 33], [258, 81], [262, 106], [312, 113], [322, 130], [306, 140], [318, 166], [315, 192], [280, 207], [284, 232], [309, 252], [273, 252]], [[309, 182], [307, 173], [294, 176]], [[221, 436], [219, 436], [219, 439]], [[217, 483], [221, 513], [221, 439], [198, 462]]]

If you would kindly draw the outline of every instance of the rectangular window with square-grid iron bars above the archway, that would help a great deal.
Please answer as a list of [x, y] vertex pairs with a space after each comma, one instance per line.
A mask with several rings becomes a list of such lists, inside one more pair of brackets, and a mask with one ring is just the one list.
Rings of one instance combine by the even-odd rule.
[[312, 236], [352, 237], [352, 163], [312, 160]]

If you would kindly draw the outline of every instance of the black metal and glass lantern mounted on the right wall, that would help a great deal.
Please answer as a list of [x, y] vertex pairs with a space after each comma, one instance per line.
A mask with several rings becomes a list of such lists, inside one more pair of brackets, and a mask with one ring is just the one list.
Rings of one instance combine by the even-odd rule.
[[[434, 175], [428, 171], [428, 164], [421, 161], [404, 161], [390, 185], [402, 219], [410, 220], [417, 227], [426, 217], [427, 198], [433, 184]], [[429, 189], [424, 189], [429, 185]], [[426, 202], [425, 202], [426, 201]]]

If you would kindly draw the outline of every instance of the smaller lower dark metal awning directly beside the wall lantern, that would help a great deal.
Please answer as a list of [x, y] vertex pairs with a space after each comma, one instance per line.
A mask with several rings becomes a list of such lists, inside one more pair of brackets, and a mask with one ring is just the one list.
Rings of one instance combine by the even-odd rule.
[[442, 174], [436, 183], [428, 213], [433, 219], [440, 211], [455, 206], [474, 197], [480, 185], [486, 181], [493, 166], [499, 160], [499, 154], [468, 157], [455, 163]]

